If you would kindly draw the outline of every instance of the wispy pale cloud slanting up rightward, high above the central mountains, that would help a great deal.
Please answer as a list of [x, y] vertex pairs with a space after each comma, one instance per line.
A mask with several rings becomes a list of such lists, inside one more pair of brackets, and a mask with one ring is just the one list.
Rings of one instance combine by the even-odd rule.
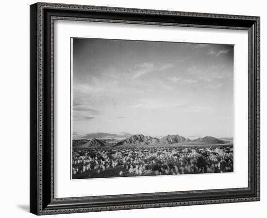
[[139, 78], [147, 73], [150, 73], [152, 71], [157, 70], [166, 70], [168, 68], [173, 67], [172, 63], [151, 63], [151, 62], [143, 62], [141, 64], [137, 64], [134, 66], [134, 69], [132, 69], [132, 79]]

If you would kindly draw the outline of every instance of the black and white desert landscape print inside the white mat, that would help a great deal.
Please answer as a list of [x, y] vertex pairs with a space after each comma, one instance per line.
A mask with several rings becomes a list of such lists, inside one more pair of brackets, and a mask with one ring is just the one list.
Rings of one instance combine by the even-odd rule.
[[234, 45], [72, 38], [72, 179], [234, 171]]

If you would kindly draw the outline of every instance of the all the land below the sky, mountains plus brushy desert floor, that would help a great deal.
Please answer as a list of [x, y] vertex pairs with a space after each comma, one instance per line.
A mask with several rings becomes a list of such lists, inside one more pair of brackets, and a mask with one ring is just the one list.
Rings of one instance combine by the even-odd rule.
[[233, 172], [233, 139], [73, 140], [72, 179]]

